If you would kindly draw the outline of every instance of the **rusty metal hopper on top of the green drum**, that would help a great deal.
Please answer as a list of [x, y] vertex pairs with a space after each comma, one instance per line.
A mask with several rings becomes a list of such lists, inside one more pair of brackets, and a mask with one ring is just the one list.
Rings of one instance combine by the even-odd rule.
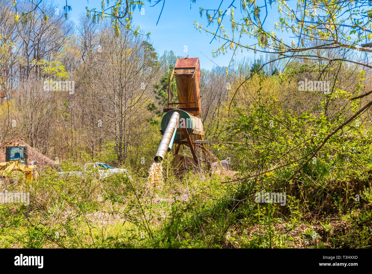
[[179, 105], [179, 109], [198, 116], [202, 112], [199, 91], [199, 58], [178, 58], [169, 79], [169, 86], [173, 76], [176, 79], [178, 102], [169, 102], [170, 91], [168, 90], [168, 108], [164, 109], [164, 112], [172, 110], [171, 105]]

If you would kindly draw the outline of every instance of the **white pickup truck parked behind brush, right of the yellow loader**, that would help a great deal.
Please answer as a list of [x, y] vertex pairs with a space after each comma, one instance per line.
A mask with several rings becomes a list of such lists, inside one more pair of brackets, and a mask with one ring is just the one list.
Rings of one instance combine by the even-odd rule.
[[58, 172], [58, 174], [61, 175], [76, 175], [80, 177], [89, 176], [92, 173], [97, 173], [99, 179], [104, 179], [107, 177], [110, 177], [114, 174], [125, 174], [126, 177], [130, 179], [130, 175], [127, 169], [116, 169], [113, 167], [110, 167], [108, 164], [105, 163], [88, 163], [84, 165], [83, 171], [62, 171]]

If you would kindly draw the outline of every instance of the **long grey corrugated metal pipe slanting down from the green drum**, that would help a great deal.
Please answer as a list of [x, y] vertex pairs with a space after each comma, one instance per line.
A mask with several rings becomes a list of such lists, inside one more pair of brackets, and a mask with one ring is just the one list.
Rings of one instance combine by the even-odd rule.
[[177, 111], [174, 111], [164, 131], [163, 138], [161, 139], [160, 145], [158, 147], [158, 151], [155, 154], [154, 157], [155, 163], [162, 161], [169, 147], [171, 147], [172, 145], [171, 143], [173, 143], [174, 140], [174, 132], [177, 130], [179, 118], [180, 114]]

